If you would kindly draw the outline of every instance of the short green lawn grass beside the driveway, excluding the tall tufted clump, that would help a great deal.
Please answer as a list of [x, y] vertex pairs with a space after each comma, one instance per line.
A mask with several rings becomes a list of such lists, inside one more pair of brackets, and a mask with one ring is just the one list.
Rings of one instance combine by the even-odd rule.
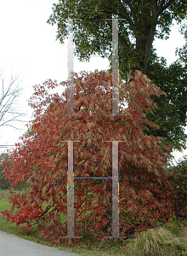
[[[17, 191], [16, 193], [21, 193]], [[0, 212], [4, 210], [9, 210], [11, 208], [11, 204], [8, 202], [10, 195], [8, 191], [0, 190]], [[87, 214], [91, 212], [88, 211]], [[1, 215], [1, 213], [0, 213]], [[61, 220], [65, 221], [67, 217], [65, 215], [61, 216]], [[16, 226], [16, 224], [7, 222], [5, 219], [0, 218], [0, 230], [3, 230], [9, 234], [13, 234], [15, 236], [20, 236], [26, 240], [36, 241], [42, 245], [48, 245], [48, 241], [44, 240], [41, 236], [38, 236], [37, 226], [34, 226], [32, 230], [21, 230], [21, 227], [24, 224], [20, 224]], [[55, 246], [59, 249], [66, 250], [68, 252], [80, 253], [85, 256], [107, 256], [107, 255], [129, 255], [124, 253], [124, 248], [126, 245], [126, 241], [122, 239], [117, 239], [115, 242], [113, 239], [105, 239], [104, 244], [99, 243], [99, 241], [93, 241], [89, 239], [84, 239], [82, 241], [77, 241], [76, 244], [72, 243], [72, 247], [68, 247], [64, 245], [65, 240], [61, 242], [59, 246]]]

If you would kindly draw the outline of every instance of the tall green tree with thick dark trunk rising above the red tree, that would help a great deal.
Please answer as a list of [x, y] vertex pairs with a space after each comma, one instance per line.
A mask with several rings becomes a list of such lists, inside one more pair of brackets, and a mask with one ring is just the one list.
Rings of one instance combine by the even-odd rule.
[[138, 69], [146, 74], [154, 38], [167, 38], [173, 20], [185, 19], [187, 1], [176, 0], [90, 0], [54, 3], [54, 14], [48, 22], [57, 23], [59, 41], [67, 36], [67, 20], [74, 20], [75, 44], [78, 55], [111, 51], [112, 17], [119, 20], [120, 63], [122, 71]]

